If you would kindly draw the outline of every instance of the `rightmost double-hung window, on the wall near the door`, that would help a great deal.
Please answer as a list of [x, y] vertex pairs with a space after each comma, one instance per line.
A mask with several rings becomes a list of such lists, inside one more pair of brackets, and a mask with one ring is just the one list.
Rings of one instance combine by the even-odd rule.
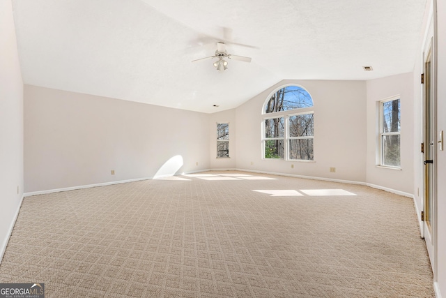
[[401, 166], [401, 105], [399, 98], [380, 101], [380, 163]]

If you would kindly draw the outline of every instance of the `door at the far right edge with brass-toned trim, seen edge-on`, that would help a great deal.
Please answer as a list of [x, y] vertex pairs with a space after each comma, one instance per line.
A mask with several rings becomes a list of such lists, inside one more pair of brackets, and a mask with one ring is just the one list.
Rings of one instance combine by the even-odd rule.
[[423, 90], [423, 144], [424, 144], [424, 200], [423, 235], [429, 252], [432, 269], [435, 271], [435, 232], [436, 232], [436, 119], [433, 72], [433, 38], [429, 38], [424, 48], [424, 90]]

